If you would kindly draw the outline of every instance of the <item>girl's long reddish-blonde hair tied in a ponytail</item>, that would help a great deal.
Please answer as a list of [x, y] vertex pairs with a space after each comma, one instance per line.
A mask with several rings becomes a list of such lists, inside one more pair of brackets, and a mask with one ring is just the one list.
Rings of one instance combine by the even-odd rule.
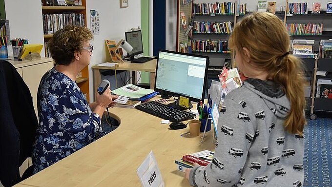
[[285, 119], [285, 129], [302, 135], [306, 124], [306, 100], [302, 62], [288, 53], [289, 34], [283, 22], [271, 13], [253, 13], [238, 22], [229, 37], [228, 45], [250, 52], [250, 63], [269, 73], [268, 79], [279, 83], [290, 101], [290, 111]]

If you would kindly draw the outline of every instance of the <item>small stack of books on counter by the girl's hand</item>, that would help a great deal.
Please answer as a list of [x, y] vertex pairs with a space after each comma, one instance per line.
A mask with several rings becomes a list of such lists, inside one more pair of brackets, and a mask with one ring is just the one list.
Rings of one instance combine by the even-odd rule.
[[175, 164], [179, 171], [186, 172], [186, 169], [192, 168], [194, 163], [197, 163], [201, 166], [207, 166], [210, 162], [212, 162], [213, 155], [213, 151], [199, 151], [184, 155], [181, 159], [175, 160]]

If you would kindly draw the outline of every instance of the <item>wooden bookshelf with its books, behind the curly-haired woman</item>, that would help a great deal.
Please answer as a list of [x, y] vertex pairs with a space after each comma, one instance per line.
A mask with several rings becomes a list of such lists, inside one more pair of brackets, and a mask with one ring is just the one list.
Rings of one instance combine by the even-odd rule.
[[[53, 37], [52, 33], [56, 32], [58, 29], [63, 28], [64, 25], [70, 23], [86, 26], [86, 17], [87, 17], [86, 0], [82, 0], [82, 6], [46, 6], [43, 3], [42, 17], [43, 17], [43, 29], [44, 29], [43, 36], [44, 36], [45, 56], [50, 57], [50, 54], [47, 49], [47, 42], [50, 38]], [[51, 22], [52, 20], [53, 22]], [[67, 21], [67, 20], [72, 20], [72, 21]], [[83, 94], [86, 95], [86, 100], [90, 101], [88, 66], [84, 67], [81, 73], [82, 76], [76, 79], [76, 83], [80, 87]]]

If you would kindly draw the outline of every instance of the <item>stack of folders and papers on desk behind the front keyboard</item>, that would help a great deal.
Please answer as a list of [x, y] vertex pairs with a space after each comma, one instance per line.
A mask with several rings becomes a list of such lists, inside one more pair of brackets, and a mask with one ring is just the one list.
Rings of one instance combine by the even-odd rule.
[[112, 93], [119, 96], [129, 98], [132, 101], [145, 101], [157, 95], [157, 92], [152, 89], [145, 89], [134, 84], [127, 84], [112, 91]]

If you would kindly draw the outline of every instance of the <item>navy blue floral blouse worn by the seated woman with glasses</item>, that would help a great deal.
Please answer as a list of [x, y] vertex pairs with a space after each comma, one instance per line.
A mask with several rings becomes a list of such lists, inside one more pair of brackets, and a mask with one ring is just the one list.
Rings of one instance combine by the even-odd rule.
[[93, 142], [103, 134], [78, 85], [52, 68], [38, 88], [39, 127], [32, 155], [34, 173]]

